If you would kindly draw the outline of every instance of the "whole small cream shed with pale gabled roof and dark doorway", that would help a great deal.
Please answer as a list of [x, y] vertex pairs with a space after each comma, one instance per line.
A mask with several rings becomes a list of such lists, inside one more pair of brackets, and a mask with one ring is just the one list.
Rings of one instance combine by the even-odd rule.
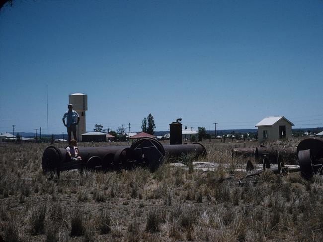
[[284, 116], [264, 118], [255, 125], [258, 127], [258, 141], [278, 140], [292, 136], [294, 124]]

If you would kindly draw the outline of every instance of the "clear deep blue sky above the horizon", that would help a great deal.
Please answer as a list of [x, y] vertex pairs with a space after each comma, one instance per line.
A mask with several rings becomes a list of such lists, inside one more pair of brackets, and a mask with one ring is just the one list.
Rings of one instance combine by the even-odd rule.
[[15, 0], [0, 12], [0, 132], [66, 132], [68, 95], [86, 129], [254, 128], [284, 115], [323, 126], [322, 0]]

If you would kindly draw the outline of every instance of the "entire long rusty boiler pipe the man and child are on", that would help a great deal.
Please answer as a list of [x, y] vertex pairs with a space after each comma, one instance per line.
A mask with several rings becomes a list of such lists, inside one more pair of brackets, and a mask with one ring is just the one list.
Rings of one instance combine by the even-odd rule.
[[62, 170], [83, 167], [119, 170], [135, 166], [148, 166], [154, 171], [161, 165], [166, 154], [171, 157], [179, 157], [182, 154], [206, 155], [206, 149], [200, 143], [162, 146], [158, 140], [152, 138], [137, 140], [130, 147], [81, 147], [79, 151], [82, 161], [71, 161], [66, 149], [47, 147], [42, 157], [43, 171], [57, 171], [59, 174]]

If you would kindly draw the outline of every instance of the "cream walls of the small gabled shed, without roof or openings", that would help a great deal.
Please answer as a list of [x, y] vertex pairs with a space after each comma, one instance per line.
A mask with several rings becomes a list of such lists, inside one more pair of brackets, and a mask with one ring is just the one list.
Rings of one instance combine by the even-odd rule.
[[279, 120], [273, 126], [261, 126], [258, 127], [258, 141], [262, 142], [263, 139], [263, 131], [267, 130], [268, 138], [265, 140], [279, 140], [279, 126], [285, 125], [286, 126], [286, 138], [292, 136], [292, 125], [287, 122], [285, 119]]

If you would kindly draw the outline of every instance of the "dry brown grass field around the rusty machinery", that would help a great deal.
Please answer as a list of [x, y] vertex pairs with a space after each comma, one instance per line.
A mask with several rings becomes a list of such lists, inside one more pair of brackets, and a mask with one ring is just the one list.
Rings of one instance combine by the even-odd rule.
[[[194, 161], [230, 163], [213, 172], [202, 173], [186, 157], [186, 168], [165, 160], [154, 173], [71, 170], [60, 180], [42, 172], [47, 144], [2, 144], [0, 236], [5, 242], [322, 242], [323, 177], [263, 172], [239, 184], [245, 174], [234, 168], [246, 160], [233, 159], [231, 149], [257, 144], [230, 141], [203, 142], [207, 156]], [[107, 143], [79, 147], [93, 145]]]

